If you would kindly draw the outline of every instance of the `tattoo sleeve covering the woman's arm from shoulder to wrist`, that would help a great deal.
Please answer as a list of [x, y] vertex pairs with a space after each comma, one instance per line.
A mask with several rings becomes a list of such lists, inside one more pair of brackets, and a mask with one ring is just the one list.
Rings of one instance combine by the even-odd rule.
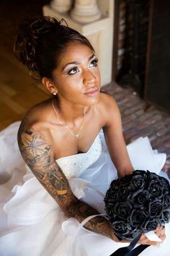
[[[74, 217], [81, 222], [88, 216], [98, 214], [97, 210], [73, 195], [66, 176], [53, 158], [51, 145], [41, 132], [34, 132], [29, 126], [27, 119], [24, 119], [19, 127], [19, 149], [24, 161], [42, 186], [58, 202], [66, 216]], [[92, 218], [85, 227], [118, 241], [112, 226], [102, 216]]]

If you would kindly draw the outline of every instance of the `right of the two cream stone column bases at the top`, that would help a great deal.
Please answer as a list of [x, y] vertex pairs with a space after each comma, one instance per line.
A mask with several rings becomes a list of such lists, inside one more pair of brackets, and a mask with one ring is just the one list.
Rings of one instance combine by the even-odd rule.
[[97, 7], [96, 0], [76, 0], [71, 10], [73, 20], [81, 23], [94, 22], [99, 20], [101, 13]]

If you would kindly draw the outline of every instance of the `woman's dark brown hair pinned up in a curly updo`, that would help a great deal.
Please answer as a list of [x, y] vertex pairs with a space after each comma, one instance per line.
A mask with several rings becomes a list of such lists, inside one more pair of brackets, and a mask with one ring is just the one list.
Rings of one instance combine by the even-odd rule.
[[[19, 26], [14, 53], [35, 77], [53, 79], [61, 54], [75, 41], [94, 48], [84, 35], [52, 17], [26, 19]], [[65, 22], [66, 23], [66, 22]]]

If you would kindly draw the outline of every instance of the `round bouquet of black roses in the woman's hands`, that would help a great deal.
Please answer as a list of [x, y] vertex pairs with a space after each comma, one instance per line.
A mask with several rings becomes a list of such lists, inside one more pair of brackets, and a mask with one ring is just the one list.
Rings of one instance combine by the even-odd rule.
[[169, 222], [169, 182], [150, 171], [133, 171], [112, 181], [104, 203], [117, 237], [132, 240]]

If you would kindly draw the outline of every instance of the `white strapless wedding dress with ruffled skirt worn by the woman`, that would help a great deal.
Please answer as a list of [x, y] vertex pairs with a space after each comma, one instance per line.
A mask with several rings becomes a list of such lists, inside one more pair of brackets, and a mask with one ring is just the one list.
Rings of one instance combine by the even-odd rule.
[[[18, 128], [16, 122], [0, 132], [0, 255], [109, 256], [127, 246], [81, 228], [75, 218], [64, 216], [22, 160], [17, 146]], [[166, 154], [152, 150], [148, 137], [135, 140], [127, 148], [135, 169], [158, 174], [164, 166]], [[86, 153], [59, 158], [57, 163], [76, 197], [104, 213], [103, 197], [112, 179], [117, 178], [117, 171], [102, 131]], [[169, 242], [167, 224], [164, 243], [148, 247], [140, 255], [169, 256]]]

